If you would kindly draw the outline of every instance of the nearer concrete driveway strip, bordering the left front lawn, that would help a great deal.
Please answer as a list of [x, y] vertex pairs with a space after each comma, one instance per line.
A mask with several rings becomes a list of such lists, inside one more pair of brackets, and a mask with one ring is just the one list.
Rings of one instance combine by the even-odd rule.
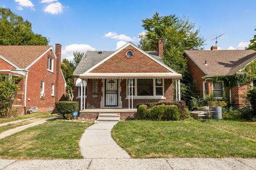
[[42, 120], [39, 120], [39, 121], [36, 121], [36, 122], [33, 122], [33, 123], [29, 123], [29, 124], [26, 124], [26, 125], [23, 125], [23, 126], [18, 126], [17, 128], [4, 131], [4, 132], [0, 133], [0, 139], [8, 137], [8, 136], [10, 136], [10, 135], [12, 135], [14, 133], [23, 131], [23, 130], [25, 130], [27, 128], [30, 128], [30, 127], [33, 127], [33, 126], [45, 123], [45, 122], [50, 121], [50, 120], [54, 120], [55, 118], [57, 118], [57, 117], [44, 118]]

